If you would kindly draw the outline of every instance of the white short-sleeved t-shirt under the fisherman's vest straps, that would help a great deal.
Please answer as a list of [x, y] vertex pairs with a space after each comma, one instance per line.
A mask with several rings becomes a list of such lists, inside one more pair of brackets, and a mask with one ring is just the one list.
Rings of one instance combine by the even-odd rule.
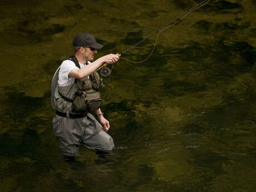
[[[79, 63], [79, 65], [81, 68], [85, 66], [82, 63]], [[75, 83], [75, 78], [68, 76], [68, 74], [73, 68], [78, 68], [73, 61], [65, 60], [61, 63], [60, 72], [58, 72], [59, 86], [66, 86]]]

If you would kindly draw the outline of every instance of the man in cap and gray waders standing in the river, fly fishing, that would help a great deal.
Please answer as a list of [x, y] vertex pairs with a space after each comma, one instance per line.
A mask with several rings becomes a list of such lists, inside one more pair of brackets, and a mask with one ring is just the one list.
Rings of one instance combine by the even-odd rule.
[[[99, 151], [114, 149], [113, 139], [106, 133], [109, 121], [100, 110], [99, 91], [104, 83], [96, 70], [103, 63], [117, 62], [119, 56], [109, 54], [94, 61], [95, 53], [102, 47], [91, 34], [78, 34], [73, 38], [75, 55], [63, 61], [53, 76], [53, 132], [65, 160], [75, 159], [80, 144]], [[97, 120], [90, 112], [95, 112]]]

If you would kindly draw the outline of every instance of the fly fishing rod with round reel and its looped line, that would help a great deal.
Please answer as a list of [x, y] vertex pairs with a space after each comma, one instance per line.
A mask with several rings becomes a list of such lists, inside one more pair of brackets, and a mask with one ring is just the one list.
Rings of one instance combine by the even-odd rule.
[[[126, 52], [130, 51], [132, 48], [134, 48], [135, 46], [139, 45], [140, 43], [144, 42], [145, 40], [147, 40], [148, 38], [150, 38], [151, 36], [155, 35], [156, 33], [158, 33], [157, 37], [156, 37], [156, 40], [155, 40], [155, 45], [154, 45], [154, 48], [152, 49], [150, 55], [145, 59], [145, 60], [142, 60], [140, 62], [133, 62], [133, 61], [130, 61], [130, 60], [127, 60], [126, 58], [124, 57], [120, 57], [120, 58], [124, 58], [125, 60], [129, 61], [129, 62], [132, 62], [132, 63], [142, 63], [144, 61], [146, 61], [152, 54], [152, 52], [154, 51], [155, 49], [155, 46], [156, 46], [156, 42], [157, 42], [157, 39], [159, 37], [159, 34], [161, 31], [163, 31], [164, 29], [166, 28], [169, 28], [171, 26], [173, 26], [174, 24], [178, 23], [181, 21], [181, 19], [183, 19], [186, 15], [188, 15], [190, 12], [192, 11], [195, 11], [195, 9], [198, 9], [202, 6], [204, 6], [206, 3], [208, 3], [210, 0], [204, 0], [200, 3], [198, 3], [196, 6], [192, 7], [191, 9], [189, 9], [188, 11], [184, 12], [183, 14], [180, 14], [180, 16], [178, 16], [177, 18], [175, 18], [173, 21], [169, 22], [169, 23], [166, 23], [164, 24], [164, 26], [160, 27], [159, 29], [157, 29], [156, 31], [152, 32], [149, 36], [145, 37], [143, 40], [135, 43], [133, 46], [131, 46], [130, 48], [128, 48], [127, 50], [125, 50], [124, 52], [120, 53], [119, 54], [119, 57], [121, 55], [124, 55]], [[114, 64], [110, 70], [109, 67], [106, 67], [107, 66], [107, 63], [104, 63], [98, 70], [100, 70], [100, 73], [103, 77], [109, 77], [110, 74], [111, 74], [111, 71], [112, 71], [112, 68], [114, 67]]]

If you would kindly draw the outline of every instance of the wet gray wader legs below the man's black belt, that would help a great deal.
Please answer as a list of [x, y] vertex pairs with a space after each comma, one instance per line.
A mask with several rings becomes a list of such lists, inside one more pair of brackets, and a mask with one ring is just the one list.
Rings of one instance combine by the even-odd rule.
[[56, 115], [53, 119], [53, 132], [60, 148], [68, 154], [78, 154], [80, 144], [89, 149], [104, 151], [114, 148], [112, 137], [102, 130], [101, 124], [91, 114], [78, 119]]

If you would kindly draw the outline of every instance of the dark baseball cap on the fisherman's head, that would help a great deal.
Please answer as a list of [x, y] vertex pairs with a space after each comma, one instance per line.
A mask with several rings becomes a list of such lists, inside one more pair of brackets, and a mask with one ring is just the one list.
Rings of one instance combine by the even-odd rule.
[[96, 50], [99, 50], [103, 47], [100, 43], [97, 43], [93, 35], [90, 33], [79, 33], [76, 37], [73, 38], [73, 47], [92, 47]]

